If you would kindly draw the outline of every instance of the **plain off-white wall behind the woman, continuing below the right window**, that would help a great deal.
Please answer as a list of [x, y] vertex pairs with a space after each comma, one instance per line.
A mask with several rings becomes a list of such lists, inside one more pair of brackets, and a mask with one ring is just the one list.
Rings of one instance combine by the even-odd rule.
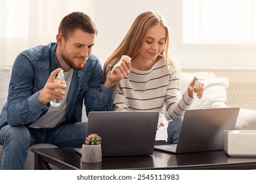
[[[62, 1], [63, 3], [65, 1]], [[229, 69], [255, 69], [256, 46], [253, 45], [184, 45], [182, 44], [182, 1], [181, 0], [87, 0], [91, 6], [84, 8], [98, 27], [98, 37], [93, 52], [102, 64], [114, 51], [127, 33], [133, 20], [141, 12], [156, 10], [165, 16], [171, 28], [170, 53], [177, 58], [182, 69], [200, 68], [210, 70], [228, 67]], [[76, 9], [70, 9], [70, 11]], [[83, 10], [80, 7], [77, 10]], [[56, 20], [55, 20], [56, 19]], [[59, 24], [59, 18], [53, 16], [53, 22]], [[35, 39], [35, 44], [54, 41], [56, 27], [51, 31], [53, 39]], [[0, 44], [2, 44], [0, 42]], [[4, 47], [4, 45], [1, 45]], [[18, 45], [17, 45], [18, 46]], [[29, 46], [30, 47], [30, 46]], [[15, 50], [14, 57], [22, 50]], [[12, 61], [8, 61], [11, 65]], [[0, 65], [7, 65], [1, 61]]]

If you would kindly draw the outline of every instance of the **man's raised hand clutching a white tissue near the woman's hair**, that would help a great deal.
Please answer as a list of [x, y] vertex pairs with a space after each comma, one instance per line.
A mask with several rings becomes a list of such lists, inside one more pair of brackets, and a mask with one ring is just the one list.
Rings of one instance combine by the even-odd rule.
[[105, 86], [107, 88], [113, 88], [116, 84], [125, 76], [131, 72], [131, 61], [129, 59], [123, 59], [121, 65], [116, 67], [112, 74], [110, 74], [106, 80]]

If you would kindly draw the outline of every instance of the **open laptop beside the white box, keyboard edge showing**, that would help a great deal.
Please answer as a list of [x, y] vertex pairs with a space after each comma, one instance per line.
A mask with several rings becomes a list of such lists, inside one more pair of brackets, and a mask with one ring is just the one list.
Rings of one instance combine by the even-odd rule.
[[240, 108], [186, 110], [177, 144], [154, 148], [175, 154], [224, 149], [224, 130], [234, 129]]

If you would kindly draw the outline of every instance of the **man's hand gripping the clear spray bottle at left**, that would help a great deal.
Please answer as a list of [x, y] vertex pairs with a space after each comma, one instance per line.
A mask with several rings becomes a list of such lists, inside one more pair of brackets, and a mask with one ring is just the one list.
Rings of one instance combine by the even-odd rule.
[[60, 84], [59, 82], [54, 82], [55, 76], [61, 71], [61, 68], [55, 69], [49, 76], [45, 86], [39, 91], [38, 99], [42, 105], [46, 105], [52, 99], [63, 99], [66, 88], [66, 84]]

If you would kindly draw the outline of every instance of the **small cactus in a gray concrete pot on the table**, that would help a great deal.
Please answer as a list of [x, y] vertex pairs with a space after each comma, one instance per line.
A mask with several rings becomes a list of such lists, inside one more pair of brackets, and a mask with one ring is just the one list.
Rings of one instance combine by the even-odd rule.
[[82, 161], [86, 163], [98, 163], [102, 161], [101, 137], [96, 133], [91, 133], [85, 138], [82, 146]]

